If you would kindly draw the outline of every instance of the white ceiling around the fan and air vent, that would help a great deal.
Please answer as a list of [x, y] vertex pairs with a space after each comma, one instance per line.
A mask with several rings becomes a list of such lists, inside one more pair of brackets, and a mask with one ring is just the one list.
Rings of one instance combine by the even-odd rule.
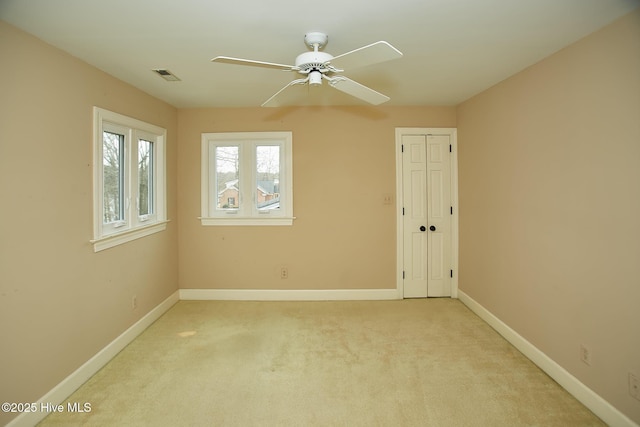
[[[640, 0], [0, 0], [0, 19], [178, 107], [259, 106], [295, 73], [304, 34], [336, 56], [378, 40], [403, 58], [344, 75], [384, 105], [456, 105], [640, 6]], [[46, 64], [43, 64], [46, 69]], [[166, 82], [152, 69], [168, 69]], [[332, 92], [317, 102], [362, 104]]]

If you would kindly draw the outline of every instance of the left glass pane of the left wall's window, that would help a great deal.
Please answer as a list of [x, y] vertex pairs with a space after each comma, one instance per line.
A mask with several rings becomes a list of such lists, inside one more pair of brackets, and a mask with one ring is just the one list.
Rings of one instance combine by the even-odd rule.
[[103, 223], [124, 219], [124, 135], [102, 136]]

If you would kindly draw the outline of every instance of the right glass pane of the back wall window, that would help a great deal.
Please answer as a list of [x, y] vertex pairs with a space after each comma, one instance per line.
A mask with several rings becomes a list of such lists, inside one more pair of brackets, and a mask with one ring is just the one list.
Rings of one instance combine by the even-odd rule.
[[256, 147], [256, 207], [280, 209], [280, 146]]

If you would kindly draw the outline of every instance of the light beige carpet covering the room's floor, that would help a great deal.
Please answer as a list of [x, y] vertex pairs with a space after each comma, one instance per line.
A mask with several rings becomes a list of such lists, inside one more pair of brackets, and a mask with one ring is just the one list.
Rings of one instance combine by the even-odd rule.
[[180, 301], [67, 402], [40, 425], [605, 425], [453, 299]]

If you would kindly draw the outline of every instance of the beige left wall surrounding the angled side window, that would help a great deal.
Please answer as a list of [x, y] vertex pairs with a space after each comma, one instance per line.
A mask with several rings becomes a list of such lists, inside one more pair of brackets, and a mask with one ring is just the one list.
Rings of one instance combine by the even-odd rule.
[[[35, 402], [178, 288], [177, 111], [2, 21], [0, 58], [0, 401]], [[167, 129], [172, 220], [99, 253], [94, 105]]]

